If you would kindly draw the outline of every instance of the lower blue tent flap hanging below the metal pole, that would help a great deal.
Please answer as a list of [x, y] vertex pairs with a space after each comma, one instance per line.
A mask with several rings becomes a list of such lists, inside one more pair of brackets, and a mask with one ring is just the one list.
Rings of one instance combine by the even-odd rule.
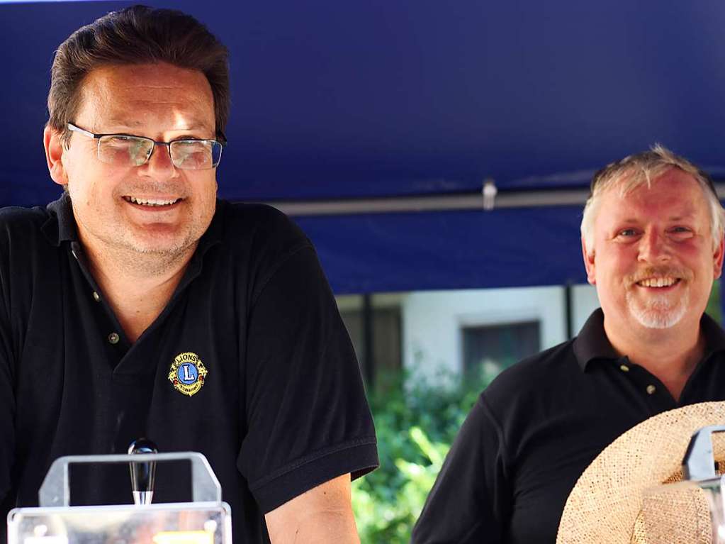
[[585, 283], [580, 221], [579, 207], [297, 219], [338, 293]]

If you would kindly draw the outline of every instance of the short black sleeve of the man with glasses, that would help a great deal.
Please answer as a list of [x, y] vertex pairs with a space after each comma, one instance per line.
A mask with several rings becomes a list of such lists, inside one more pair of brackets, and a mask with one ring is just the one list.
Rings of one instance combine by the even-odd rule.
[[378, 458], [360, 367], [312, 246], [285, 257], [257, 292], [238, 466], [268, 512]]

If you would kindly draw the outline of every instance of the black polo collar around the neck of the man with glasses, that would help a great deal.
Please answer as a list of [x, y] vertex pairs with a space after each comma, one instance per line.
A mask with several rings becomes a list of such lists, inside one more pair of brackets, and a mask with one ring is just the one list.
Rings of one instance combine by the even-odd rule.
[[[64, 192], [61, 197], [47, 206], [48, 220], [41, 227], [48, 241], [58, 247], [62, 242], [78, 242], [78, 228], [75, 226], [73, 206], [70, 195]], [[207, 231], [199, 239], [199, 245], [194, 252], [194, 258], [199, 258], [207, 250], [223, 239], [223, 215], [225, 215], [226, 202], [217, 199], [216, 212]], [[199, 257], [197, 257], [197, 255]]]

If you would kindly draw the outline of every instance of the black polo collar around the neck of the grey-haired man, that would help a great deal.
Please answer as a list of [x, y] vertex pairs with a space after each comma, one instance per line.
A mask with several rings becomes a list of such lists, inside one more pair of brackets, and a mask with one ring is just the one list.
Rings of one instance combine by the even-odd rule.
[[[700, 326], [705, 335], [705, 356], [707, 359], [713, 353], [725, 351], [725, 331], [708, 314], [703, 313]], [[604, 331], [604, 312], [597, 308], [579, 332], [573, 342], [574, 355], [581, 370], [587, 369], [592, 360], [618, 360], [620, 356], [610, 344]]]

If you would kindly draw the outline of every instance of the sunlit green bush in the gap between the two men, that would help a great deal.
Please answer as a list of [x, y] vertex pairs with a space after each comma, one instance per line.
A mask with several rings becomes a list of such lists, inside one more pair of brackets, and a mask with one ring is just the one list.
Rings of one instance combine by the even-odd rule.
[[460, 425], [491, 376], [440, 374], [434, 384], [402, 374], [384, 378], [369, 395], [380, 468], [352, 482], [352, 506], [363, 544], [406, 544]]

